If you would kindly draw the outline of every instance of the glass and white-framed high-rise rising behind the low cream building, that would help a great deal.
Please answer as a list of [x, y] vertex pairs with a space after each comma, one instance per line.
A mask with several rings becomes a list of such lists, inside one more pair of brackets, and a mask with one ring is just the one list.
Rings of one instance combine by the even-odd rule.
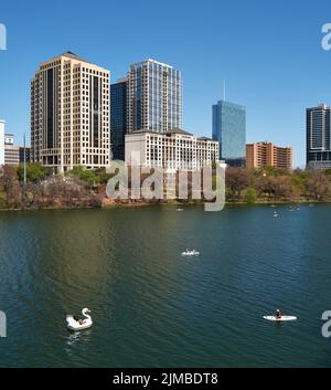
[[128, 73], [128, 133], [167, 133], [182, 127], [183, 82], [181, 72], [147, 60]]

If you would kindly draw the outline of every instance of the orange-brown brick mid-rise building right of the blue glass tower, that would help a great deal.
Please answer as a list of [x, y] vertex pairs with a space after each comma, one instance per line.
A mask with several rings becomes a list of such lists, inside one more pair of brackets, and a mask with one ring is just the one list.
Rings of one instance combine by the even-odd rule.
[[279, 147], [271, 143], [256, 143], [246, 145], [246, 167], [275, 167], [292, 169], [292, 148]]

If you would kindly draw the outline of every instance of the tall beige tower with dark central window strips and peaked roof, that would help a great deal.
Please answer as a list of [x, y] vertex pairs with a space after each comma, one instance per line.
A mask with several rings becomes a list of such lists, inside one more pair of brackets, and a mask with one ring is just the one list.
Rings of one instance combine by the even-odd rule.
[[31, 160], [66, 171], [110, 160], [109, 71], [66, 52], [31, 81]]

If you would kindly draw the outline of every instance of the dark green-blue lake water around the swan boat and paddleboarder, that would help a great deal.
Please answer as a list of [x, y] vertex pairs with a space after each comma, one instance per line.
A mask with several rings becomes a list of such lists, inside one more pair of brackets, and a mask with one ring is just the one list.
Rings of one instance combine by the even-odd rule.
[[[0, 213], [0, 366], [330, 367], [331, 207], [277, 211]], [[83, 307], [95, 324], [71, 334]]]

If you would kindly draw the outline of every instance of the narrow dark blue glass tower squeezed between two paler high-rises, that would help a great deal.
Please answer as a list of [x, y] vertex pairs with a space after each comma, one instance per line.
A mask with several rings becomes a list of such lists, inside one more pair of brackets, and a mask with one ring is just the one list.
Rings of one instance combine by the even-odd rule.
[[125, 160], [125, 135], [127, 134], [127, 78], [110, 85], [110, 134], [114, 160]]

